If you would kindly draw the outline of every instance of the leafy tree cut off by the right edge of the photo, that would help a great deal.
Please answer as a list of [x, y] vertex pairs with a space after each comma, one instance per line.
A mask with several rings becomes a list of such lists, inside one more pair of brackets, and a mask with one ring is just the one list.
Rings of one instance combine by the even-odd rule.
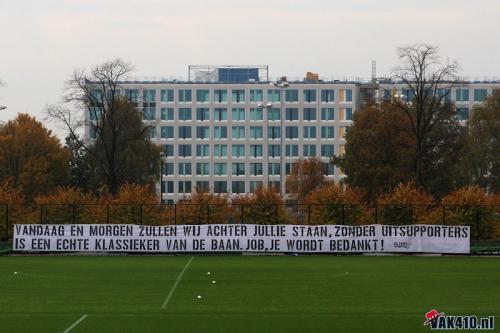
[[500, 93], [473, 109], [464, 166], [471, 184], [500, 193]]

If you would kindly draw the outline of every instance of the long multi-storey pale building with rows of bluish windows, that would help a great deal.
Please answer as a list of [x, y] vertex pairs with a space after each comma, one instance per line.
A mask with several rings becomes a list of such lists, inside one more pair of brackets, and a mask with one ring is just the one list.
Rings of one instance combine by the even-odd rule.
[[[329, 164], [344, 152], [344, 134], [366, 99], [411, 96], [401, 84], [375, 88], [359, 81], [270, 81], [267, 66], [190, 66], [187, 81], [126, 81], [121, 89], [138, 103], [151, 139], [162, 146], [159, 190], [176, 202], [194, 189], [229, 195], [258, 185], [285, 193], [286, 177], [298, 158], [315, 156], [325, 175], [339, 180]], [[377, 89], [378, 93], [375, 93]], [[500, 82], [465, 82], [447, 94], [461, 119]]]

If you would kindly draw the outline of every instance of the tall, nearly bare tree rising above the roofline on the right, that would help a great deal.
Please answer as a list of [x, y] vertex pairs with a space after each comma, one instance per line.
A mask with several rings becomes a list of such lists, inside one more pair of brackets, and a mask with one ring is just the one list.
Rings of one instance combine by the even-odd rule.
[[[438, 49], [420, 44], [398, 49], [401, 64], [394, 69], [393, 79], [403, 84], [409, 96], [406, 102], [390, 99], [406, 116], [414, 136], [414, 168], [412, 177], [417, 187], [426, 185], [426, 166], [435, 158], [436, 147], [442, 143], [442, 130], [453, 124], [449, 107], [451, 88], [457, 84], [458, 64], [442, 63]], [[451, 110], [451, 111], [450, 111]], [[436, 128], [441, 127], [441, 130]], [[433, 135], [436, 132], [439, 135]]]

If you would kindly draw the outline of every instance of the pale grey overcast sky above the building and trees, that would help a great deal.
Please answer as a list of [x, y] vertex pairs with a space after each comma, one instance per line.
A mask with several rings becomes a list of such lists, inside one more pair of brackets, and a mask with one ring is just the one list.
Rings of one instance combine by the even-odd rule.
[[[499, 0], [0, 0], [0, 120], [43, 117], [76, 68], [116, 57], [137, 76], [266, 64], [271, 76], [379, 76], [429, 43], [465, 76], [500, 76]], [[51, 127], [51, 126], [49, 126]]]

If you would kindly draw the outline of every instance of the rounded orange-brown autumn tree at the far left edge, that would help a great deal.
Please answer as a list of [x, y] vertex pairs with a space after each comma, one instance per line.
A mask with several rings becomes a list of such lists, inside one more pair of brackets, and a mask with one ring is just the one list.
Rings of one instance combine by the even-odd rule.
[[68, 181], [70, 154], [52, 131], [27, 114], [0, 126], [0, 181], [32, 202]]

